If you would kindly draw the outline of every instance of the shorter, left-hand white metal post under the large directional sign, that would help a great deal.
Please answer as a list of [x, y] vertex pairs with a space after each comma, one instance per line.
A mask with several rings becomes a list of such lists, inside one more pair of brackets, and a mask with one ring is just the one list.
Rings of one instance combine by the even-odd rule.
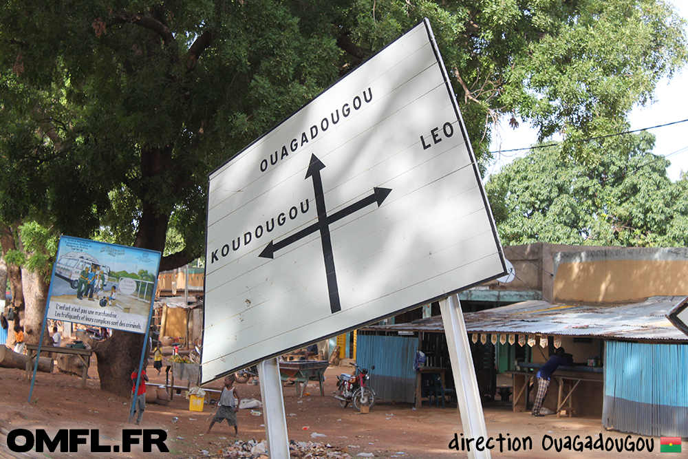
[[279, 378], [277, 358], [262, 361], [258, 365], [260, 394], [263, 398], [263, 420], [268, 439], [270, 459], [289, 459], [287, 417], [284, 412], [282, 381]]

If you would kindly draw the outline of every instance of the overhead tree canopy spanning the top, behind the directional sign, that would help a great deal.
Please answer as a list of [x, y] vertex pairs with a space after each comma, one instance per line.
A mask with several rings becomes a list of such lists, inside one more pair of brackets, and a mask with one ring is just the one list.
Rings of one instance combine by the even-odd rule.
[[203, 253], [208, 171], [423, 17], [483, 161], [499, 116], [606, 134], [686, 58], [661, 0], [6, 0], [0, 223], [170, 242], [162, 268], [181, 266]]

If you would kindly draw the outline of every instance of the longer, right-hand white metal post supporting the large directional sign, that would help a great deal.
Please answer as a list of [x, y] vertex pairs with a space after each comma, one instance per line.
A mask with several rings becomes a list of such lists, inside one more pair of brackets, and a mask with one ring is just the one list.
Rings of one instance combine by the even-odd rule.
[[[464, 429], [464, 438], [487, 436], [485, 416], [482, 412], [480, 390], [475, 378], [475, 367], [469, 346], [469, 337], [466, 333], [466, 324], [461, 311], [461, 303], [458, 295], [452, 295], [448, 299], [440, 300], [440, 312], [444, 323], [444, 334], [447, 336], [449, 348], [449, 360], [451, 361], [451, 374], [456, 385], [456, 397], [459, 403], [461, 425]], [[468, 453], [469, 459], [491, 459], [490, 450], [475, 451], [475, 442]]]

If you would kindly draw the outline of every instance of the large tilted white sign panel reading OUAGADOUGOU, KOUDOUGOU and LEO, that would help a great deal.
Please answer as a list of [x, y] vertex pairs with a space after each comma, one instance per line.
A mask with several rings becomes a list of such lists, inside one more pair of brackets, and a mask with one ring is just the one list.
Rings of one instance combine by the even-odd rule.
[[424, 21], [210, 175], [203, 380], [505, 273]]

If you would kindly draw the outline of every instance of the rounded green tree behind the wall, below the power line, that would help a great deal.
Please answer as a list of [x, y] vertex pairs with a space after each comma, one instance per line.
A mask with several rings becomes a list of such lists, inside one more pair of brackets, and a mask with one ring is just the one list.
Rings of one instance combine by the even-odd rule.
[[561, 145], [535, 147], [491, 175], [502, 244], [684, 246], [686, 181], [669, 180], [653, 147], [651, 134], [627, 134], [592, 166], [562, 158]]

